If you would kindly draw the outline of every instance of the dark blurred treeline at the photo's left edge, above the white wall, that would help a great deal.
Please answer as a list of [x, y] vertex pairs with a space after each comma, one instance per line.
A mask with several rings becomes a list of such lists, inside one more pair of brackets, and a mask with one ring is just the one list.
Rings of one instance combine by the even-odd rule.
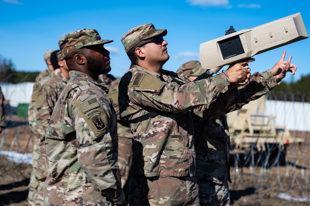
[[20, 83], [34, 82], [40, 72], [18, 72], [11, 59], [0, 56], [0, 82]]

